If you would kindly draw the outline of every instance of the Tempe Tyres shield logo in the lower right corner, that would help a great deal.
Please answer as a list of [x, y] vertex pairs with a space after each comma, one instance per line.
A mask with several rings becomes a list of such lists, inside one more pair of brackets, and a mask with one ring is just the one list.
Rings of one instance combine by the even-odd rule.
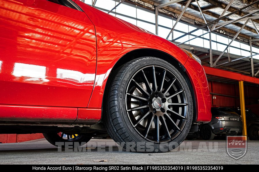
[[245, 156], [247, 151], [247, 138], [246, 136], [227, 136], [226, 151], [228, 155], [235, 160]]

